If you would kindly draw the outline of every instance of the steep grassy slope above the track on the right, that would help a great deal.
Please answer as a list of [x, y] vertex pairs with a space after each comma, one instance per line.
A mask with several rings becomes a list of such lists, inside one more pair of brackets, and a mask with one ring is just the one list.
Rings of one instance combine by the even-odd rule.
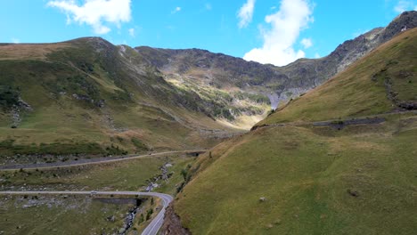
[[392, 80], [399, 101], [417, 101], [416, 34], [417, 29], [412, 29], [381, 45], [363, 60], [314, 91], [291, 101], [258, 125], [388, 112], [395, 107], [387, 98], [386, 77]]

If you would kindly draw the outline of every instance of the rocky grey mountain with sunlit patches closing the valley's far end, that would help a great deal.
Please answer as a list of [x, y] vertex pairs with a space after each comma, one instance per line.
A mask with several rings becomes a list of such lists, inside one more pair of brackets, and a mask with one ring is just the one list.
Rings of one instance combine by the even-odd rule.
[[[198, 49], [135, 49], [172, 85], [196, 92], [203, 100], [218, 102], [225, 108], [222, 113], [217, 113], [218, 117], [248, 127], [254, 124], [253, 121], [265, 118], [269, 104], [275, 109], [306, 93], [403, 29], [415, 27], [417, 12], [404, 12], [386, 28], [375, 28], [349, 40], [326, 57], [302, 59], [281, 68]], [[250, 98], [254, 95], [255, 99]], [[245, 118], [246, 122], [243, 121]]]

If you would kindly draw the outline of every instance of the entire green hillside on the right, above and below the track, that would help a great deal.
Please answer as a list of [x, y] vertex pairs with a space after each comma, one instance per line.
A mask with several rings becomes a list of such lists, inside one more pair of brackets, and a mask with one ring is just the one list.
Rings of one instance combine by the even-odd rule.
[[417, 114], [341, 124], [416, 101], [416, 45], [417, 29], [406, 31], [277, 110], [263, 122], [271, 126], [199, 158], [174, 205], [184, 227], [192, 234], [413, 234]]

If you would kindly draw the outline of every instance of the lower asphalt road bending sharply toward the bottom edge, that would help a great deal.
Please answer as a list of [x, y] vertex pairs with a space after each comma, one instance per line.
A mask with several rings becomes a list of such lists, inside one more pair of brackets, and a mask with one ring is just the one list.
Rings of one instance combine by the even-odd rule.
[[49, 194], [49, 195], [130, 195], [130, 196], [149, 196], [162, 199], [162, 209], [159, 214], [146, 227], [142, 235], [156, 235], [164, 223], [165, 211], [169, 203], [173, 200], [171, 195], [159, 192], [140, 192], [140, 191], [0, 191], [0, 195], [33, 195], [33, 194]]

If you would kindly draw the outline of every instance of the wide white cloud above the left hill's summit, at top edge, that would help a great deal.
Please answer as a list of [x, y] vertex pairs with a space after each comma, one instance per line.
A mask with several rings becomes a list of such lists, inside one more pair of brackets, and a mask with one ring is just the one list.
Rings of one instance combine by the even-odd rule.
[[104, 22], [120, 28], [122, 22], [131, 20], [131, 0], [85, 0], [78, 5], [74, 0], [49, 1], [48, 6], [61, 9], [67, 14], [67, 24], [72, 21], [93, 27], [96, 34], [107, 34], [110, 28]]

